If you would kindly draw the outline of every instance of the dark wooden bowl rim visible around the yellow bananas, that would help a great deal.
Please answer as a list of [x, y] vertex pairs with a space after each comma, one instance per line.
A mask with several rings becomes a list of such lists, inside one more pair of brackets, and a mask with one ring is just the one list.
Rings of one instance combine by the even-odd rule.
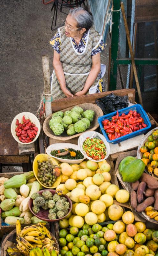
[[[54, 241], [54, 246], [56, 247], [57, 251], [59, 251], [59, 244], [58, 244], [55, 236], [53, 236], [52, 233], [50, 233], [50, 234], [52, 236], [52, 240]], [[6, 253], [5, 253], [5, 244], [7, 243], [7, 241], [10, 241], [12, 243], [17, 243], [17, 241], [16, 241], [16, 229], [11, 231], [11, 233], [4, 238], [3, 243], [1, 245], [1, 249], [2, 249], [1, 250], [1, 256], [6, 255]]]

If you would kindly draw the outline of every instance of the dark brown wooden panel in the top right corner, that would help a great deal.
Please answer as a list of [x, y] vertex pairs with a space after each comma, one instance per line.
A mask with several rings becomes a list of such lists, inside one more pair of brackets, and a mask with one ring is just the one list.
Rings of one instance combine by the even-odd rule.
[[134, 22], [158, 20], [158, 4], [155, 0], [136, 0]]

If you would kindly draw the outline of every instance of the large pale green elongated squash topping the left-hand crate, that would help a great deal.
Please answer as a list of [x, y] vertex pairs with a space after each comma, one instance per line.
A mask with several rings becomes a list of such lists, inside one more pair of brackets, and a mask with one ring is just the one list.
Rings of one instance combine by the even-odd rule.
[[4, 188], [20, 188], [23, 184], [26, 184], [26, 177], [23, 174], [15, 175], [4, 182]]

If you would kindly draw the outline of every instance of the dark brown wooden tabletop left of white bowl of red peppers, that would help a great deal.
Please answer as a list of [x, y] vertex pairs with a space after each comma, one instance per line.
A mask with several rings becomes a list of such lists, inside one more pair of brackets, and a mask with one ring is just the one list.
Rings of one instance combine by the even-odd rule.
[[3, 123], [3, 155], [4, 156], [18, 156], [18, 142], [14, 140], [11, 134], [11, 125]]

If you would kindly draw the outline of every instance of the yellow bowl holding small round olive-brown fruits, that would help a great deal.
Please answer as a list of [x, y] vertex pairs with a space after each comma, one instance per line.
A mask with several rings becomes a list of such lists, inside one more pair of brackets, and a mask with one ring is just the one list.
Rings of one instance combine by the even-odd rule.
[[37, 174], [38, 174], [38, 163], [37, 161], [40, 160], [40, 162], [43, 161], [47, 161], [50, 160], [52, 162], [52, 164], [56, 164], [59, 167], [58, 162], [56, 161], [56, 159], [54, 159], [53, 157], [47, 155], [47, 154], [38, 154], [35, 158], [34, 158], [34, 162], [33, 162], [33, 172], [34, 172], [34, 176], [36, 177], [36, 179], [38, 180], [38, 182], [42, 185], [42, 187], [44, 188], [56, 188], [60, 182], [61, 182], [61, 175], [56, 179], [56, 181], [53, 183], [52, 187], [46, 187], [44, 186], [41, 181], [38, 179]]

